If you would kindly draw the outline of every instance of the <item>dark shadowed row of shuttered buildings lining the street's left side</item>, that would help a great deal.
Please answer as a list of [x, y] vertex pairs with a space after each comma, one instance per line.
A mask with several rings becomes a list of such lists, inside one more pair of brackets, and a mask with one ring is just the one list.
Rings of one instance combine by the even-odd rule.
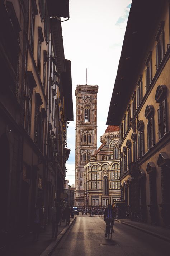
[[0, 247], [32, 230], [37, 199], [46, 224], [64, 192], [73, 106], [60, 19], [69, 1], [61, 2], [0, 2]]

